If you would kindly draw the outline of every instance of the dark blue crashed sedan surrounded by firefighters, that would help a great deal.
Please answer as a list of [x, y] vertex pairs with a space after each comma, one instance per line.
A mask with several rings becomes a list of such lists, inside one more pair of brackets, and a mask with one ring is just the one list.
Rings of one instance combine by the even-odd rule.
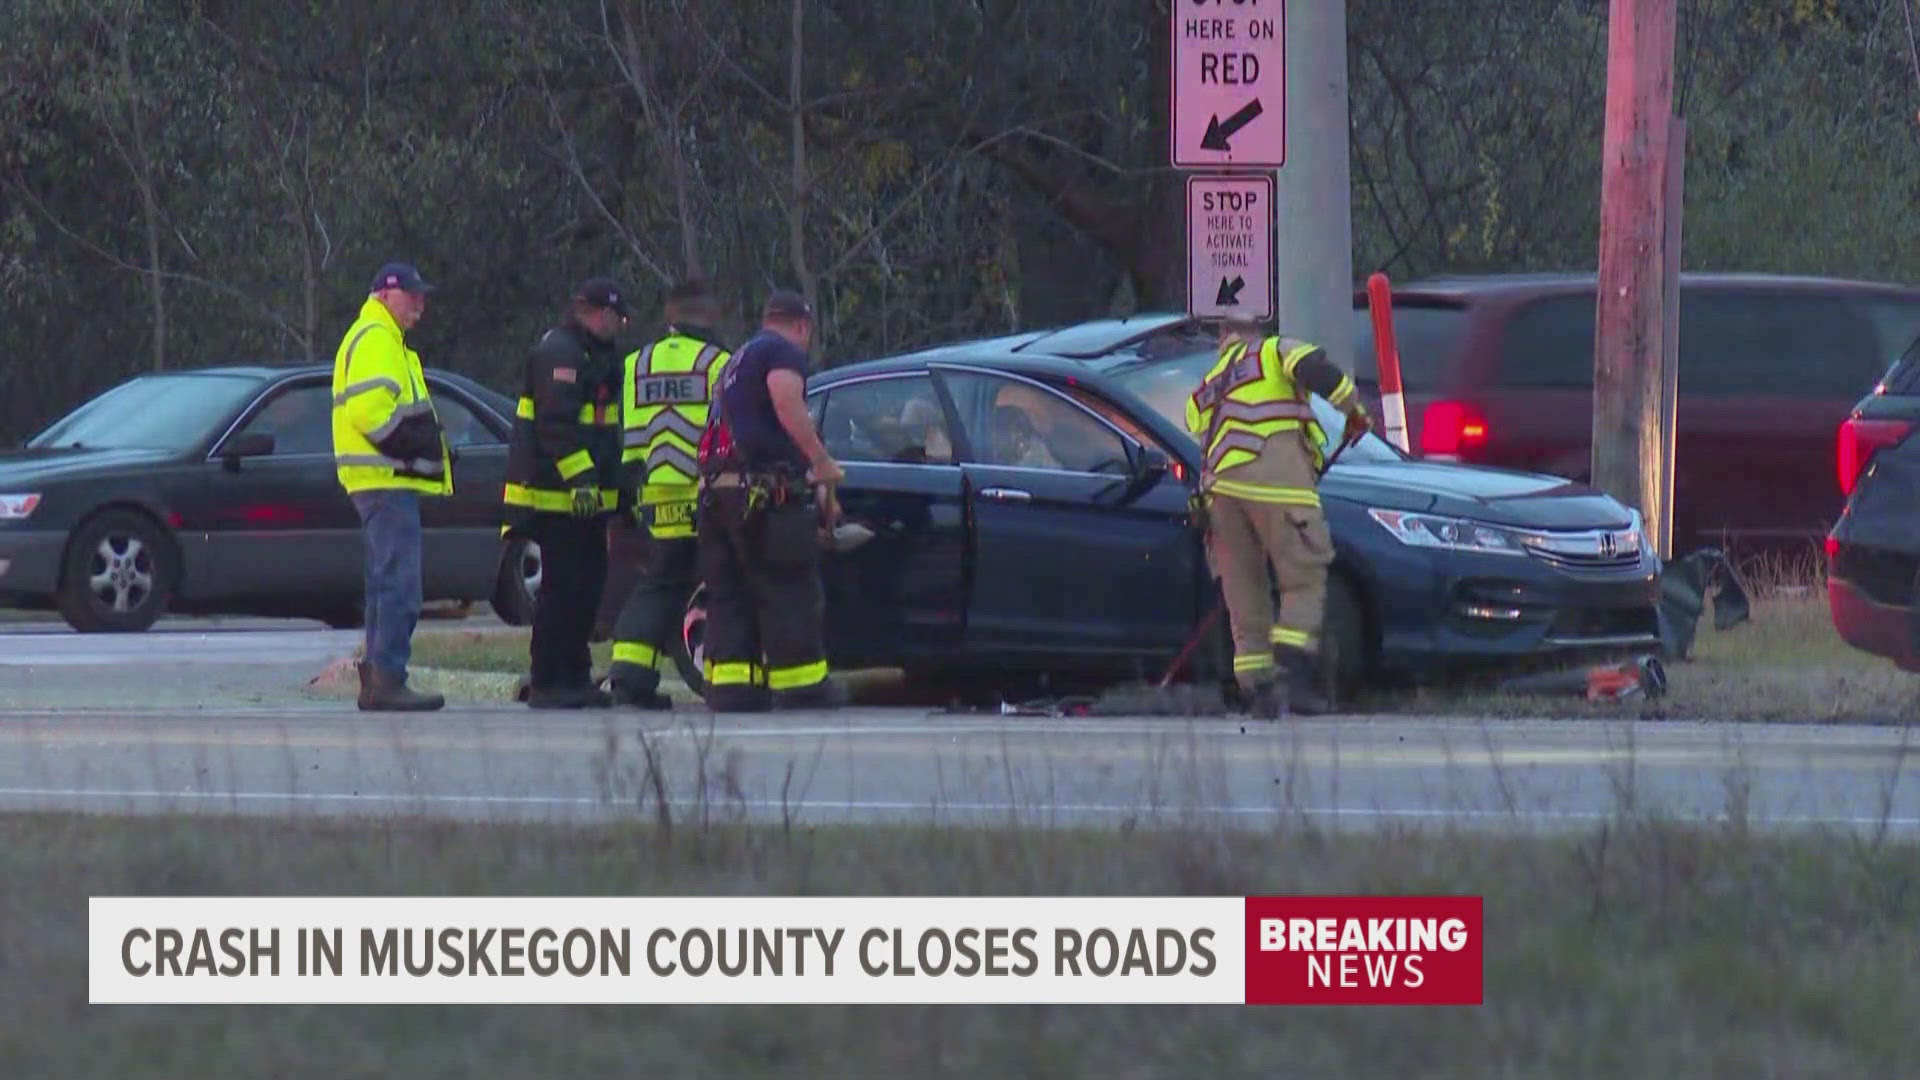
[[[1213, 354], [1192, 321], [1156, 315], [814, 375], [845, 513], [876, 532], [826, 559], [831, 663], [1158, 676], [1219, 596], [1188, 521], [1200, 450], [1183, 427]], [[1340, 690], [1369, 671], [1659, 644], [1657, 563], [1603, 494], [1409, 461], [1367, 436], [1323, 500]], [[697, 648], [697, 621], [691, 634]], [[1225, 676], [1225, 638], [1221, 619], [1202, 676]]]

